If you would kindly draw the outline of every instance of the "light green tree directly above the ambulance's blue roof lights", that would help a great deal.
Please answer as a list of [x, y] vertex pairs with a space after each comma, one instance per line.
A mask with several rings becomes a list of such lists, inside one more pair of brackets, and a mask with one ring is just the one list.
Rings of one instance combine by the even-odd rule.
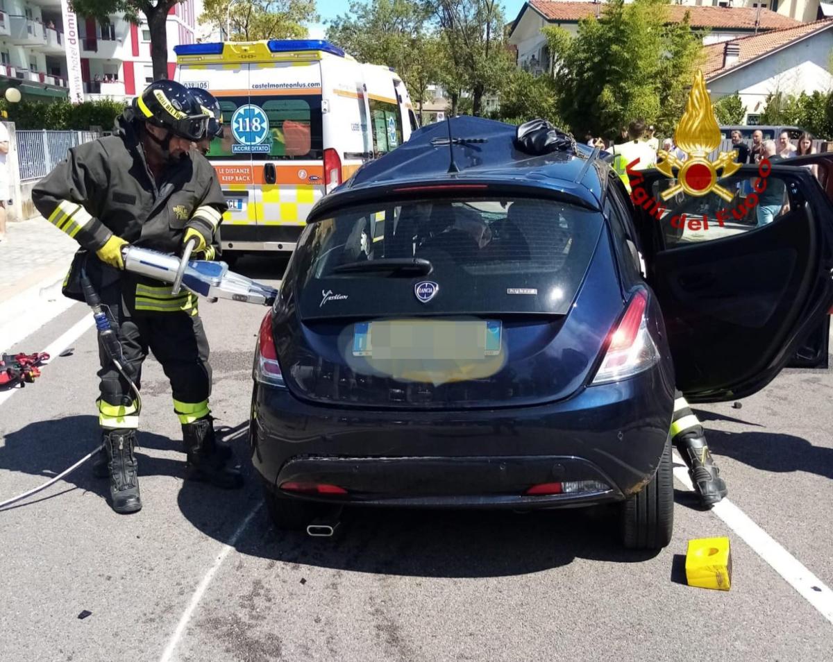
[[297, 39], [307, 34], [307, 23], [316, 22], [315, 0], [237, 0], [229, 12], [229, 0], [206, 0], [200, 22], [226, 28], [230, 41]]

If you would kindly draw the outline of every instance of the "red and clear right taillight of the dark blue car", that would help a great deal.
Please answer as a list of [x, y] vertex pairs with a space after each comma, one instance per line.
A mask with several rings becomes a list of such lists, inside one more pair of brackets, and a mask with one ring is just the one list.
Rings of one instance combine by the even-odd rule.
[[660, 353], [648, 332], [645, 311], [646, 291], [639, 290], [631, 298], [625, 314], [611, 331], [610, 345], [596, 372], [593, 384], [619, 381], [645, 371], [659, 361]]

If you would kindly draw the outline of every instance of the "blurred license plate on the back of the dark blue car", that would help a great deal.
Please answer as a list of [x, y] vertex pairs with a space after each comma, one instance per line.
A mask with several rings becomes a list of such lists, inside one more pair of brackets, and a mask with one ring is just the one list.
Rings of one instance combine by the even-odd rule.
[[501, 322], [392, 320], [359, 322], [353, 356], [374, 359], [482, 359], [501, 353]]

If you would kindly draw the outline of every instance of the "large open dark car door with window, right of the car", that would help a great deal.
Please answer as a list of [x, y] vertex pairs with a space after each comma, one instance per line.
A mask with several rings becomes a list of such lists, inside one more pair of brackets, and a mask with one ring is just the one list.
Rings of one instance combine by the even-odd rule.
[[[814, 164], [830, 168], [833, 155]], [[635, 209], [646, 280], [661, 303], [676, 386], [692, 402], [760, 391], [826, 321], [833, 203], [796, 165], [742, 167], [705, 196], [672, 191], [663, 201], [678, 182], [656, 170], [634, 186], [633, 200], [640, 187], [646, 199]], [[706, 174], [703, 166], [691, 182], [706, 188]]]

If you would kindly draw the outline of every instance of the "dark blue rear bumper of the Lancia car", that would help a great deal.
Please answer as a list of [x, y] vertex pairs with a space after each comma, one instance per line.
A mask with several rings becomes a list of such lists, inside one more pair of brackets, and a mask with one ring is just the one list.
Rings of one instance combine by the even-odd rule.
[[[366, 411], [311, 405], [256, 385], [252, 463], [347, 495], [284, 495], [365, 505], [536, 508], [622, 500], [656, 472], [674, 388], [661, 362], [618, 384], [543, 406]], [[532, 485], [596, 480], [608, 489], [526, 496]]]

